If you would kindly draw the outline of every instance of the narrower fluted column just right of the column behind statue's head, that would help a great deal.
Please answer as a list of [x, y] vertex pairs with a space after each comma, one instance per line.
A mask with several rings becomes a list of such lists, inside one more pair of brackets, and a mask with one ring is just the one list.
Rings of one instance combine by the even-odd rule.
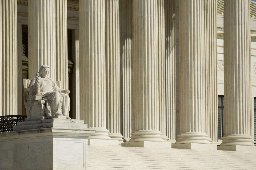
[[67, 0], [55, 0], [56, 81], [67, 89]]

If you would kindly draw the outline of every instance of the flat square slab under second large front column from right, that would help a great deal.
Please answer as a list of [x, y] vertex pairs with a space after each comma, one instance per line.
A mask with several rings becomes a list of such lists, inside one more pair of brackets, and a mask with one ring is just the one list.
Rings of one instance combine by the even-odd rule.
[[175, 149], [205, 149], [205, 150], [217, 150], [216, 144], [204, 144], [204, 143], [182, 143], [172, 144], [172, 148]]

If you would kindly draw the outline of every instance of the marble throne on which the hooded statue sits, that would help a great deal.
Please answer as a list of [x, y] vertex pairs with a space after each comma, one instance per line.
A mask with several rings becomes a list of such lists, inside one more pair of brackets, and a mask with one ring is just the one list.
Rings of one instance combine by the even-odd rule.
[[[40, 96], [35, 96], [34, 100], [29, 101], [27, 96], [28, 96], [28, 87], [30, 85], [29, 79], [23, 78], [23, 89], [24, 89], [24, 94], [23, 94], [23, 101], [25, 104], [26, 108], [26, 121], [36, 121], [40, 119], [47, 119], [45, 115], [45, 100], [40, 98]], [[58, 87], [61, 87], [61, 81], [56, 81], [56, 84]], [[54, 118], [54, 117], [53, 117]], [[58, 116], [56, 116], [58, 118]]]

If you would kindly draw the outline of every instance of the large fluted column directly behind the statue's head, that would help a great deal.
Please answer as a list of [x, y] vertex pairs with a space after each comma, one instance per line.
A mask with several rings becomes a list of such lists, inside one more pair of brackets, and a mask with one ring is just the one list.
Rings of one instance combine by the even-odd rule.
[[29, 0], [29, 79], [43, 64], [50, 67], [49, 76], [56, 76], [55, 1]]

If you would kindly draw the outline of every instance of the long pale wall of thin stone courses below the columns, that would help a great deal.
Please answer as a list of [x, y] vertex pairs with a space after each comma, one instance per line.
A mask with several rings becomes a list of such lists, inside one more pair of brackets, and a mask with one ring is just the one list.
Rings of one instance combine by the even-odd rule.
[[255, 151], [88, 146], [87, 170], [256, 169]]

